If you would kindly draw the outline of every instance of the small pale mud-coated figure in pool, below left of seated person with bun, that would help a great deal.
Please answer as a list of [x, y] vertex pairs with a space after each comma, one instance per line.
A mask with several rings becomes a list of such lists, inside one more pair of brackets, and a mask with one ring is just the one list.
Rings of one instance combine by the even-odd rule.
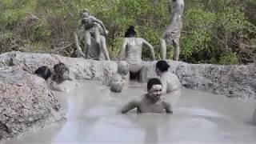
[[128, 82], [129, 66], [126, 61], [118, 62], [118, 72], [114, 74], [110, 82], [110, 90], [113, 92], [121, 92], [122, 87]]

